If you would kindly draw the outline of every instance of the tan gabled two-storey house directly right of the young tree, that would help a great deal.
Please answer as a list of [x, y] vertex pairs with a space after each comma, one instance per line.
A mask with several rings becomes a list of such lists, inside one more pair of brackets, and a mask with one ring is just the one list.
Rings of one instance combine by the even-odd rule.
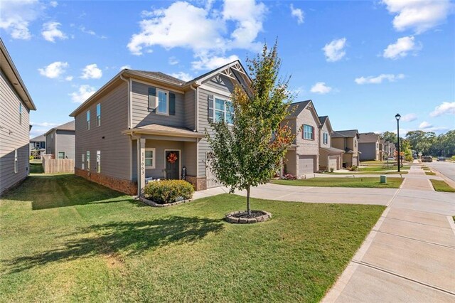
[[304, 174], [319, 171], [319, 117], [311, 100], [293, 103], [290, 114], [282, 125], [287, 124], [296, 134], [296, 140], [288, 148], [284, 172], [301, 178]]

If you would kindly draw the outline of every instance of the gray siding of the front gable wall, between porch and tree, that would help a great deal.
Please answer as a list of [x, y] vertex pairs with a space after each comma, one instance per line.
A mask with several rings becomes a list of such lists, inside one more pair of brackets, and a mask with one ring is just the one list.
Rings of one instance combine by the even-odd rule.
[[[208, 95], [217, 95], [216, 92], [211, 92], [210, 89], [215, 88], [216, 90], [222, 90], [226, 95], [230, 95], [234, 90], [234, 85], [225, 76], [216, 76], [208, 80], [201, 87], [199, 87], [199, 132], [207, 132], [213, 134], [213, 129], [210, 127], [208, 122]], [[224, 96], [220, 96], [224, 97]], [[205, 176], [205, 161], [206, 154], [210, 151], [207, 139], [200, 139], [198, 152], [198, 176]]]

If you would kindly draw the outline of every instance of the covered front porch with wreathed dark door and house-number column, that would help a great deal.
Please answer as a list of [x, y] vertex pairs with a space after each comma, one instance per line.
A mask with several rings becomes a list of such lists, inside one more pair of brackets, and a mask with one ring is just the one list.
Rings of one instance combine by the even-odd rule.
[[198, 189], [198, 142], [204, 134], [159, 124], [124, 133], [132, 137], [132, 181], [138, 194], [156, 179], [185, 179]]

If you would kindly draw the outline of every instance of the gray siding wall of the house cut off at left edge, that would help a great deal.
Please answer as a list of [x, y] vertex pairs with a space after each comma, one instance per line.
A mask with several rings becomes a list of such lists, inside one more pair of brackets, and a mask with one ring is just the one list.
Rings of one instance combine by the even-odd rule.
[[[22, 104], [21, 124], [19, 124], [20, 104]], [[0, 70], [0, 194], [28, 175], [29, 124], [28, 108]], [[15, 149], [18, 151], [17, 173], [14, 173]]]

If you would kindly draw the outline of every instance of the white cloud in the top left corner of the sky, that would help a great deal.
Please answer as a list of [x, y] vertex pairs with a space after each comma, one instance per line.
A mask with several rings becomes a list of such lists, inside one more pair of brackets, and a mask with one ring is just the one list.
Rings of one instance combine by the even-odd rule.
[[0, 28], [11, 38], [28, 40], [28, 26], [41, 14], [44, 7], [38, 0], [1, 1]]

